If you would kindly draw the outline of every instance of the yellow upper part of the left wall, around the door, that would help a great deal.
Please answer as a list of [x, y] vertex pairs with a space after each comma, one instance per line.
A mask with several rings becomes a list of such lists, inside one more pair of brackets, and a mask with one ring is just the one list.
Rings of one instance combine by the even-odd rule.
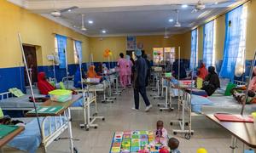
[[[55, 50], [53, 33], [82, 41], [83, 61], [88, 61], [88, 37], [5, 0], [0, 0], [0, 6], [0, 68], [22, 64], [18, 32], [23, 43], [37, 46], [38, 65], [50, 65], [46, 56]], [[73, 40], [70, 38], [67, 39], [67, 54], [68, 64], [73, 64]]]

